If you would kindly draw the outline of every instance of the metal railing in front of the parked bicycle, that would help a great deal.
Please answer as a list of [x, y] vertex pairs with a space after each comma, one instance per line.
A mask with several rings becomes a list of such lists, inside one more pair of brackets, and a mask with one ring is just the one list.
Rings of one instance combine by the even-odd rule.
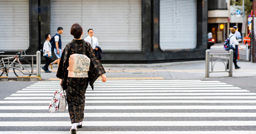
[[[11, 67], [9, 66], [10, 65], [10, 58], [13, 58], [13, 57], [16, 57], [16, 55], [1, 55], [1, 57], [8, 57], [8, 67], [10, 68], [15, 68], [15, 67]], [[18, 69], [18, 68], [15, 68], [17, 70], [19, 70], [20, 72], [22, 72], [24, 75], [37, 75], [37, 76], [40, 76], [41, 75], [41, 70], [40, 70], [40, 65], [41, 65], [41, 52], [40, 51], [37, 51], [36, 52], [36, 55], [22, 55], [22, 57], [32, 57], [32, 72], [31, 73], [23, 73], [22, 70]], [[34, 73], [34, 57], [36, 57], [36, 73]], [[20, 65], [24, 68], [26, 68], [25, 66], [23, 65]]]

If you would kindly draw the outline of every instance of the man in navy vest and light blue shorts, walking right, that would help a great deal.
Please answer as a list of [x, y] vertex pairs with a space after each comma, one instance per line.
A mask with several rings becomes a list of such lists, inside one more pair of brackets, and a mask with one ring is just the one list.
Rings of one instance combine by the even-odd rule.
[[58, 27], [57, 31], [58, 32], [54, 35], [53, 39], [51, 39], [51, 44], [52, 44], [51, 50], [54, 51], [54, 54], [58, 59], [56, 59], [54, 62], [50, 64], [51, 68], [52, 68], [52, 65], [56, 63], [59, 66], [61, 54], [63, 52], [63, 50], [61, 49], [61, 37], [60, 37], [60, 35], [63, 33], [63, 28]]

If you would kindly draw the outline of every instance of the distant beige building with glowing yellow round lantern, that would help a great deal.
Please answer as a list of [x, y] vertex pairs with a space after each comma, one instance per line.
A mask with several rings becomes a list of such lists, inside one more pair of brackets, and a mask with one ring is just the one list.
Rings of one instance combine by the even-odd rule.
[[[241, 11], [239, 16], [237, 16], [237, 10]], [[230, 0], [208, 0], [207, 32], [212, 32], [212, 37], [217, 43], [224, 42], [234, 26], [238, 27], [242, 35], [242, 16], [242, 6], [230, 5]], [[245, 28], [245, 33], [247, 33], [247, 26]]]

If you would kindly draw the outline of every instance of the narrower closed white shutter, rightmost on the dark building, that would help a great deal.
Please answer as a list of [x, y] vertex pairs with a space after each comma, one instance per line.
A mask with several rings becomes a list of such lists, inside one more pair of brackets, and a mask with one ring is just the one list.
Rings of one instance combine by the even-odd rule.
[[160, 48], [195, 49], [197, 1], [160, 0]]

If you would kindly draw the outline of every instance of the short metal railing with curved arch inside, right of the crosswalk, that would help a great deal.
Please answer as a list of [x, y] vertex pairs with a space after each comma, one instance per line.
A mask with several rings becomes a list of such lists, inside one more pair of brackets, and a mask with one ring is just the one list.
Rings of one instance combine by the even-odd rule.
[[[213, 55], [219, 55], [219, 59], [217, 61], [215, 61], [213, 63]], [[220, 59], [220, 55], [226, 55], [226, 63]], [[229, 55], [229, 70], [227, 71], [227, 57]], [[211, 57], [211, 61], [212, 61], [212, 66], [211, 66], [211, 71], [210, 71], [210, 56]], [[213, 67], [215, 65], [216, 62], [223, 62], [223, 64], [225, 65], [225, 71], [213, 71]], [[229, 76], [233, 75], [233, 50], [230, 49], [229, 53], [226, 54], [210, 54], [209, 49], [207, 49], [205, 51], [205, 77], [210, 77], [210, 73], [215, 73], [215, 72], [229, 72]]]

